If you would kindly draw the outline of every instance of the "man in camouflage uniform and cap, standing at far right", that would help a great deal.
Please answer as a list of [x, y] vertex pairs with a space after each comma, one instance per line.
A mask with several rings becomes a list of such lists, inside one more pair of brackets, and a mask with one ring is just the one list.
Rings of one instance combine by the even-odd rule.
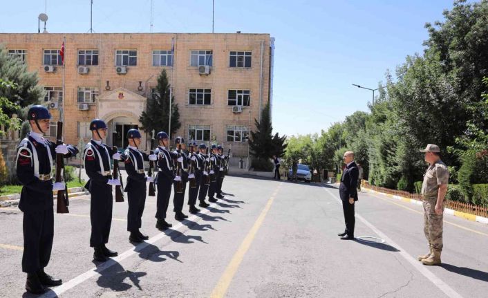
[[429, 167], [424, 174], [422, 183], [422, 201], [424, 205], [424, 234], [429, 241], [429, 253], [419, 256], [424, 265], [439, 265], [442, 252], [442, 219], [444, 212], [444, 196], [447, 193], [449, 171], [440, 160], [440, 149], [429, 144], [421, 152], [425, 153], [425, 161]]

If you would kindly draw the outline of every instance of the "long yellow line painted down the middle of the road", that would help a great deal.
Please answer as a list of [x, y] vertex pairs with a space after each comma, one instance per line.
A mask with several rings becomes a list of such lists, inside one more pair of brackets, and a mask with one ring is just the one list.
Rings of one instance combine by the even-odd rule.
[[259, 215], [258, 219], [256, 219], [256, 222], [254, 222], [254, 225], [252, 226], [251, 230], [247, 233], [245, 236], [245, 239], [237, 249], [236, 253], [234, 254], [234, 257], [232, 257], [232, 260], [230, 261], [229, 265], [227, 268], [225, 268], [224, 273], [220, 277], [217, 285], [215, 286], [214, 290], [212, 291], [212, 294], [210, 297], [212, 298], [220, 298], [224, 297], [225, 293], [227, 292], [227, 289], [229, 288], [229, 285], [234, 278], [234, 275], [237, 272], [237, 269], [241, 265], [241, 262], [244, 259], [244, 256], [249, 250], [252, 241], [254, 240], [254, 236], [256, 236], [259, 227], [263, 224], [264, 218], [266, 214], [268, 214], [268, 211], [270, 210], [270, 207], [274, 201], [274, 197], [276, 196], [276, 193], [278, 192], [279, 187], [281, 187], [280, 183], [277, 187], [276, 190], [273, 192], [271, 195], [270, 199], [268, 200], [268, 203], [266, 203], [263, 211], [261, 211], [261, 214]]

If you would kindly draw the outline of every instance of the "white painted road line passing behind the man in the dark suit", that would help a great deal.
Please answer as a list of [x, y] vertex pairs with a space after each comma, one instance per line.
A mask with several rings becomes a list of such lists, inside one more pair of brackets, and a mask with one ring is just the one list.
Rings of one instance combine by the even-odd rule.
[[[333, 194], [326, 187], [323, 187], [323, 189], [325, 189], [326, 192], [328, 192], [330, 194], [330, 196], [332, 196], [332, 198], [335, 198], [336, 201], [338, 201], [338, 203], [342, 205], [342, 201], [339, 198], [337, 198], [337, 194]], [[424, 277], [429, 279], [435, 286], [437, 286], [440, 290], [442, 290], [442, 292], [444, 292], [444, 294], [446, 294], [448, 297], [451, 297], [451, 298], [461, 298], [462, 297], [461, 295], [459, 295], [458, 292], [453, 290], [453, 288], [448, 286], [447, 283], [444, 283], [444, 281], [442, 281], [435, 274], [433, 274], [430, 270], [428, 270], [426, 268], [426, 266], [422, 265], [422, 263], [420, 263], [419, 261], [414, 259], [410, 254], [408, 254], [406, 252], [406, 250], [401, 248], [400, 245], [395, 243], [395, 241], [391, 240], [388, 236], [386, 236], [386, 234], [384, 234], [383, 232], [378, 230], [377, 227], [375, 227], [374, 225], [372, 225], [371, 223], [366, 221], [366, 219], [364, 219], [363, 216], [356, 213], [356, 217], [359, 218], [359, 220], [362, 221], [367, 227], [369, 227], [371, 230], [373, 230], [373, 232], [375, 232], [380, 238], [385, 239], [388, 243], [390, 243], [397, 250], [400, 250], [400, 252], [399, 252], [400, 255], [406, 261], [411, 263], [413, 268], [417, 269], [420, 273], [422, 273], [424, 275]]]

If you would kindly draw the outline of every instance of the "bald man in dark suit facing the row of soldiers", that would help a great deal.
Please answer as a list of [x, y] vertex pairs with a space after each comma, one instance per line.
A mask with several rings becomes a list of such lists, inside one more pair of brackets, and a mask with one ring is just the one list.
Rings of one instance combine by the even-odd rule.
[[354, 162], [353, 151], [344, 153], [344, 163], [346, 164], [346, 168], [342, 171], [339, 195], [341, 196], [346, 230], [344, 233], [338, 235], [341, 236], [341, 239], [343, 240], [354, 240], [354, 205], [357, 201], [357, 177], [359, 176], [359, 171]]

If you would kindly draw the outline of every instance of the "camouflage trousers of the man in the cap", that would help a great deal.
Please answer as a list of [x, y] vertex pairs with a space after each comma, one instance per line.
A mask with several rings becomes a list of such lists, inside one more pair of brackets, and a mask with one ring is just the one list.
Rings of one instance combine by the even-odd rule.
[[442, 220], [444, 218], [444, 203], [442, 203], [442, 214], [435, 213], [437, 197], [424, 198], [424, 234], [429, 245], [435, 250], [442, 250]]

